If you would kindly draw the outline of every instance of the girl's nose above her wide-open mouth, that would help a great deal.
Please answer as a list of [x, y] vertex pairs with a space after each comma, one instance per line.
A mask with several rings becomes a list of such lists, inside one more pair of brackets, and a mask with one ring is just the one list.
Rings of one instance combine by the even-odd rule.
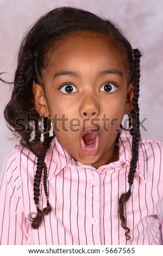
[[99, 101], [95, 96], [85, 95], [81, 102], [80, 114], [83, 118], [97, 117], [100, 112]]

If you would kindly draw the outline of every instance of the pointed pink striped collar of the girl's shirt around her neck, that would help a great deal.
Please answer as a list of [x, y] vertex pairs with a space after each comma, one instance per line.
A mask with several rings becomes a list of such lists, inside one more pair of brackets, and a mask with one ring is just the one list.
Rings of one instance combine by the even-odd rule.
[[[139, 143], [140, 144], [140, 143]], [[119, 160], [114, 163], [107, 164], [103, 166], [105, 168], [113, 166], [116, 168], [120, 164], [126, 163], [128, 166], [131, 163], [132, 159], [132, 136], [130, 133], [125, 131], [120, 131], [119, 136]], [[71, 155], [67, 153], [67, 151], [61, 146], [61, 144], [57, 141], [55, 137], [51, 142], [48, 153], [45, 157], [45, 162], [47, 163], [48, 168], [48, 177], [51, 175], [57, 175], [61, 170], [68, 166], [70, 168], [94, 168], [91, 165], [85, 165], [80, 162], [77, 162], [73, 159]], [[139, 145], [139, 160], [136, 167], [136, 173], [147, 182], [147, 159], [146, 155], [143, 153], [141, 149], [141, 145]]]

